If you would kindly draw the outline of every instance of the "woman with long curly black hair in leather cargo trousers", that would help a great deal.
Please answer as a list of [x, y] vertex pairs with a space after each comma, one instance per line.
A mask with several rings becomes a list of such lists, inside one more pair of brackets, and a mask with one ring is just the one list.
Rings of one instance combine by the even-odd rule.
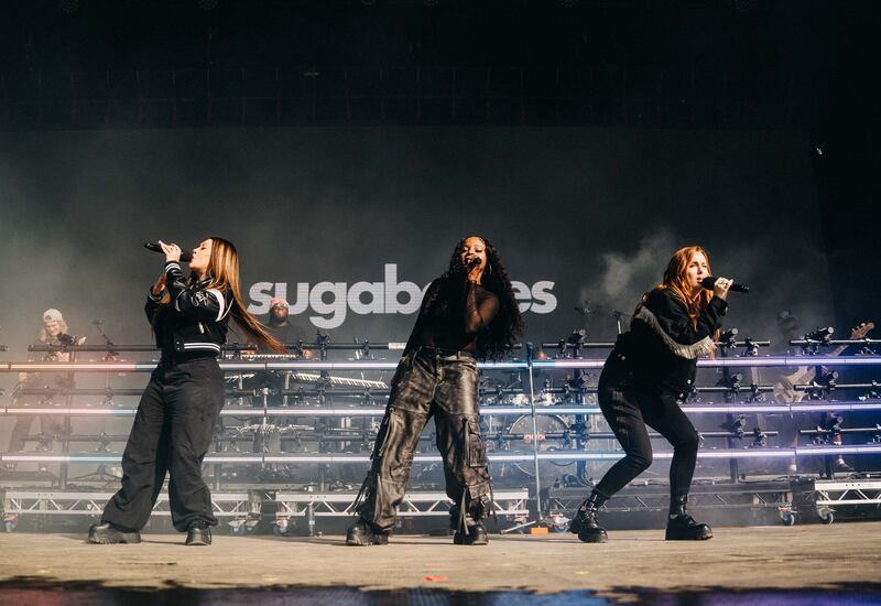
[[[434, 416], [444, 461], [455, 544], [487, 543], [491, 507], [487, 450], [480, 436], [476, 357], [501, 357], [522, 332], [511, 281], [496, 248], [470, 236], [456, 245], [446, 273], [431, 283], [392, 379], [370, 472], [356, 499], [349, 545], [385, 544], [403, 501], [422, 430]], [[363, 498], [363, 500], [361, 500]]]

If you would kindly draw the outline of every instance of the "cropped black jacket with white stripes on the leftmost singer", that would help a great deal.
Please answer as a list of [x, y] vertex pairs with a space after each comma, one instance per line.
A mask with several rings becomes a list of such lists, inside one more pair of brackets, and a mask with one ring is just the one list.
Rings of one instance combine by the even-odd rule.
[[[230, 293], [211, 288], [213, 279], [189, 284], [175, 261], [165, 263], [165, 290], [148, 291], [144, 312], [152, 323], [163, 359], [218, 356], [227, 340]], [[162, 304], [162, 297], [171, 301]]]

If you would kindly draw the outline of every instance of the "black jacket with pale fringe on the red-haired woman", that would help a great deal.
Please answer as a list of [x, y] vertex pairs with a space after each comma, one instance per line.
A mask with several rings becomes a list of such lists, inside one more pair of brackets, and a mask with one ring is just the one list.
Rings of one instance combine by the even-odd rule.
[[607, 366], [623, 367], [644, 387], [685, 400], [697, 374], [697, 358], [715, 349], [714, 333], [721, 326], [728, 303], [710, 299], [693, 325], [688, 309], [667, 289], [649, 293], [630, 323], [618, 336]]

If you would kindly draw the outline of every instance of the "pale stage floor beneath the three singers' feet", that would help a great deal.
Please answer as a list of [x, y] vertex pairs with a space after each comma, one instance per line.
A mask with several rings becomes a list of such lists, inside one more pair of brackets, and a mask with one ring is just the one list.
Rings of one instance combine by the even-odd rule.
[[183, 535], [144, 534], [139, 545], [91, 545], [84, 535], [13, 532], [0, 534], [0, 603], [29, 602], [28, 592], [17, 589], [265, 592], [294, 586], [587, 589], [590, 594], [578, 595], [638, 602], [646, 592], [825, 588], [831, 592], [827, 595], [881, 600], [881, 522], [715, 532], [713, 540], [695, 543], [665, 542], [657, 530], [612, 532], [606, 544], [584, 544], [573, 534], [491, 535], [487, 547], [401, 535], [388, 547], [370, 548], [346, 547], [339, 535], [216, 534], [211, 547], [187, 548]]

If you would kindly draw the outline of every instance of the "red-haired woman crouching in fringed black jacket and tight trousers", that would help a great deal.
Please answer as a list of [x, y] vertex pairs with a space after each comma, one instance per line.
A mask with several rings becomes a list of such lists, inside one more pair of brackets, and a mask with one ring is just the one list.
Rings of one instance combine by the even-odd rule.
[[709, 256], [699, 246], [677, 250], [664, 281], [646, 292], [633, 312], [630, 331], [618, 336], [599, 378], [600, 410], [626, 456], [594, 487], [569, 530], [586, 543], [605, 543], [597, 510], [649, 468], [652, 445], [646, 425], [673, 445], [670, 465], [667, 540], [713, 537], [709, 526], [688, 515], [688, 490], [697, 462], [698, 435], [678, 402], [692, 391], [697, 358], [711, 355], [731, 280], [701, 282], [711, 275]]

